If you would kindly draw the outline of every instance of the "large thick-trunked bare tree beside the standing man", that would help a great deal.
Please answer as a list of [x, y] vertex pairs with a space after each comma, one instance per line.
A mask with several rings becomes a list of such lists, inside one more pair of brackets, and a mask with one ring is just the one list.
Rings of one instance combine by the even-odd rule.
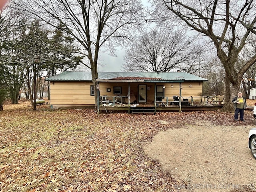
[[225, 72], [225, 104], [222, 110], [233, 110], [232, 98], [237, 94], [244, 73], [256, 62], [252, 55], [240, 69], [235, 67], [238, 56], [255, 32], [254, 0], [154, 0], [155, 16], [160, 21], [178, 19], [198, 33], [207, 36], [216, 48]]

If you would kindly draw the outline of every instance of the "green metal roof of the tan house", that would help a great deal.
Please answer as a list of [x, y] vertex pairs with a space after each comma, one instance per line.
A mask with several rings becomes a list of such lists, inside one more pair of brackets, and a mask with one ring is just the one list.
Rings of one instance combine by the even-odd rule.
[[[92, 81], [91, 72], [66, 71], [46, 79], [47, 81]], [[145, 80], [152, 81], [208, 81], [186, 72], [144, 73], [144, 72], [98, 72], [98, 80]]]

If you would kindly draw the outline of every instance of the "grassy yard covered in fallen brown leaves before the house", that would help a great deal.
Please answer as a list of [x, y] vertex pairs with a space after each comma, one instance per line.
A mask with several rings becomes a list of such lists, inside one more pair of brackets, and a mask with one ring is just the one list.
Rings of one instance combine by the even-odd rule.
[[[247, 125], [254, 125], [246, 111]], [[0, 112], [1, 191], [175, 191], [182, 181], [150, 160], [142, 146], [161, 130], [207, 119], [241, 125], [233, 114], [161, 112], [156, 115], [93, 110], [34, 111], [27, 104]]]

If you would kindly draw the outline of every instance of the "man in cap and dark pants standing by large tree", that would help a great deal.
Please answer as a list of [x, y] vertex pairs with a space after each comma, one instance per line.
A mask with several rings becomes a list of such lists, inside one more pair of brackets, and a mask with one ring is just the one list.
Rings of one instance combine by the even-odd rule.
[[242, 92], [238, 93], [238, 96], [234, 97], [232, 102], [235, 108], [235, 121], [238, 121], [238, 114], [240, 114], [240, 121], [244, 120], [244, 110], [247, 109], [246, 99], [242, 96]]

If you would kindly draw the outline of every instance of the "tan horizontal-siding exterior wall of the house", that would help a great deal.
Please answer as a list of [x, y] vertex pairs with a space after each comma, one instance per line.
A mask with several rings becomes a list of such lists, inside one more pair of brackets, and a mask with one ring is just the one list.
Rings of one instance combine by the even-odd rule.
[[[90, 106], [94, 105], [94, 96], [90, 95], [92, 82], [51, 82], [50, 104], [53, 106]], [[128, 83], [125, 82], [100, 82], [100, 96], [128, 96]], [[146, 85], [147, 102], [154, 102], [154, 83], [130, 83], [130, 91], [138, 99], [138, 85]], [[172, 96], [180, 95], [180, 83], [156, 83], [165, 86], [164, 96], [173, 101]], [[190, 86], [191, 85], [191, 86]], [[121, 94], [114, 94], [114, 87], [122, 87]], [[171, 87], [173, 86], [173, 87]], [[110, 88], [110, 92], [107, 91]], [[96, 90], [95, 90], [96, 91]], [[202, 82], [183, 82], [182, 98], [193, 96], [194, 101], [201, 101]], [[191, 101], [191, 98], [188, 98]], [[166, 101], [166, 98], [162, 100]]]

